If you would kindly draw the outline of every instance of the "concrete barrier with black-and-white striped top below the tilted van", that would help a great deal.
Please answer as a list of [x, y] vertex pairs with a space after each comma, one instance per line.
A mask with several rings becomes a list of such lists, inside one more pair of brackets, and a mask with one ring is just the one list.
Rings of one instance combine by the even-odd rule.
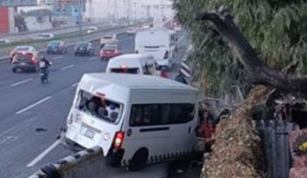
[[166, 178], [167, 165], [147, 166], [143, 170], [130, 172], [123, 168], [106, 165], [103, 151], [96, 146], [61, 159], [55, 164], [43, 166], [28, 178]]

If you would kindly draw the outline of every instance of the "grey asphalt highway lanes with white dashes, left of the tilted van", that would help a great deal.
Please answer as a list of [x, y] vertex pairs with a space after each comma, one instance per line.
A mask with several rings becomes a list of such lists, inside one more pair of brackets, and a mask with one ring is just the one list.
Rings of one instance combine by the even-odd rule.
[[[98, 48], [98, 41], [94, 45]], [[134, 36], [120, 35], [119, 45], [124, 53], [133, 52]], [[56, 138], [76, 84], [84, 73], [104, 72], [107, 65], [98, 49], [95, 56], [75, 57], [70, 48], [68, 54], [46, 57], [53, 62], [46, 85], [37, 73], [15, 74], [8, 63], [0, 65], [0, 178], [24, 178], [72, 154]]]

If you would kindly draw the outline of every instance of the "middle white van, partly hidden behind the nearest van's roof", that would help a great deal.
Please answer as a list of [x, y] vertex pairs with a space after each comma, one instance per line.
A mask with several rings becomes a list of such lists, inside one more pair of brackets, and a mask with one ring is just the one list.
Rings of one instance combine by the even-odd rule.
[[155, 60], [149, 54], [124, 54], [111, 58], [106, 73], [157, 75]]

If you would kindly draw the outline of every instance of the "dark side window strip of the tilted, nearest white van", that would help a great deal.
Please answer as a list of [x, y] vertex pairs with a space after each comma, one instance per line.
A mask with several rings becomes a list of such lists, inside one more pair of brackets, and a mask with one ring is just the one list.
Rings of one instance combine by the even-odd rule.
[[194, 104], [134, 104], [130, 126], [183, 124], [194, 119]]

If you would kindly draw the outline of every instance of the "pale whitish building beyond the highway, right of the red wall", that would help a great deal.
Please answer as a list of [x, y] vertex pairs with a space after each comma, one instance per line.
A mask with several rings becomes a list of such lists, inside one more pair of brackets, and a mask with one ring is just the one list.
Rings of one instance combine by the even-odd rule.
[[38, 9], [25, 14], [25, 22], [29, 31], [46, 30], [52, 28], [52, 11]]

